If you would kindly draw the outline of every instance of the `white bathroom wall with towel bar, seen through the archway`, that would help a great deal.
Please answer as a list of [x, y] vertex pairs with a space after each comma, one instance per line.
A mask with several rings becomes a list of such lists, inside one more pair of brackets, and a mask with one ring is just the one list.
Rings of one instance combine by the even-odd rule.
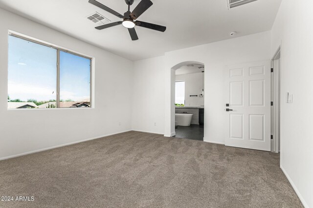
[[[185, 106], [200, 107], [204, 105], [204, 97], [200, 97], [203, 89], [203, 73], [176, 75], [175, 81], [185, 81]], [[190, 96], [190, 95], [198, 95]]]

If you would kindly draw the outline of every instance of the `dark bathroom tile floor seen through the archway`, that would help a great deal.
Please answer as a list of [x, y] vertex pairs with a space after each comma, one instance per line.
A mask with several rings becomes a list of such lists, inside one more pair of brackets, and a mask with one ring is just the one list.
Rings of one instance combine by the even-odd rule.
[[177, 138], [203, 140], [203, 126], [200, 125], [178, 126], [175, 132]]

